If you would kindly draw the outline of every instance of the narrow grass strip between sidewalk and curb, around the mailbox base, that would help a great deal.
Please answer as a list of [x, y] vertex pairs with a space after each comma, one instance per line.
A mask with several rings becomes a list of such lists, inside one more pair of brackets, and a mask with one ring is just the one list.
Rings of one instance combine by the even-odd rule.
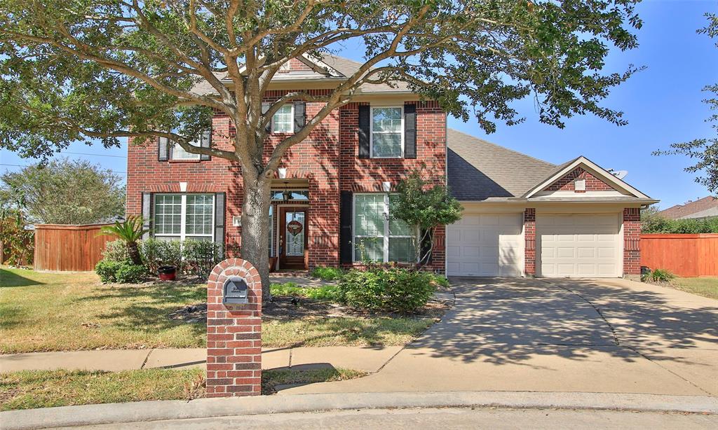
[[[262, 393], [282, 384], [342, 381], [367, 373], [321, 368], [262, 372]], [[23, 371], [0, 373], [0, 411], [147, 400], [189, 400], [205, 395], [200, 369], [123, 372]]]

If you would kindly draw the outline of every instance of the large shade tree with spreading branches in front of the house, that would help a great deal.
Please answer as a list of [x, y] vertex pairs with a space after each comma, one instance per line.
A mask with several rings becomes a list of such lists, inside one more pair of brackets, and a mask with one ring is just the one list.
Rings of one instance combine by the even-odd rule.
[[[241, 167], [242, 255], [269, 293], [271, 178], [301, 143], [365, 84], [411, 90], [488, 132], [518, 123], [514, 100], [538, 119], [572, 115], [623, 124], [602, 101], [636, 71], [605, 72], [611, 47], [638, 45], [638, 0], [4, 0], [0, 2], [0, 147], [47, 158], [70, 142], [118, 145], [169, 138], [185, 151]], [[327, 92], [289, 91], [263, 108], [290, 59], [358, 47], [363, 64]], [[208, 91], [197, 86], [204, 82]], [[267, 139], [289, 100], [323, 103], [297, 133]], [[231, 148], [190, 142], [213, 113]]]

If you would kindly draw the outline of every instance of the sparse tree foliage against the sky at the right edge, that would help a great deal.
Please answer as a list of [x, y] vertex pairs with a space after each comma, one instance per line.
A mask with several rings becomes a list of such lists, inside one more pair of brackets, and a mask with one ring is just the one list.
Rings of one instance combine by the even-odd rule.
[[[699, 29], [701, 34], [708, 34], [709, 37], [718, 37], [718, 15], [707, 14], [709, 24], [703, 29]], [[716, 42], [718, 47], [718, 42]], [[703, 100], [714, 113], [710, 115], [706, 122], [712, 123], [711, 128], [718, 136], [718, 83], [707, 85], [703, 88], [705, 92], [711, 95]], [[696, 161], [693, 166], [686, 167], [686, 172], [696, 174], [696, 182], [700, 183], [711, 193], [718, 193], [718, 137], [698, 138], [689, 142], [673, 143], [668, 151], [656, 151], [654, 155], [682, 155], [689, 156]]]

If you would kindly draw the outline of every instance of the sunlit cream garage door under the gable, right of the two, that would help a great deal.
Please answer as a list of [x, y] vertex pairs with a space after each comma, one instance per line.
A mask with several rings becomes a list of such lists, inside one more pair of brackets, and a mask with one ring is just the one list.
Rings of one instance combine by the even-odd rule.
[[618, 214], [538, 214], [537, 266], [545, 277], [620, 277]]

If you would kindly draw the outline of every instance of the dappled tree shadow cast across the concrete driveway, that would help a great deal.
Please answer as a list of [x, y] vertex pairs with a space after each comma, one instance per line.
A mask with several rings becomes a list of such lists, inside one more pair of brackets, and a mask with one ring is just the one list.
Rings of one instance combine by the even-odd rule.
[[[640, 359], [638, 352], [718, 348], [718, 307], [681, 307], [659, 292], [569, 279], [452, 284], [456, 307], [411, 350], [426, 348], [421, 353], [465, 363], [532, 365], [536, 355], [591, 361], [607, 353], [631, 362]], [[667, 355], [658, 359], [694, 363]]]

